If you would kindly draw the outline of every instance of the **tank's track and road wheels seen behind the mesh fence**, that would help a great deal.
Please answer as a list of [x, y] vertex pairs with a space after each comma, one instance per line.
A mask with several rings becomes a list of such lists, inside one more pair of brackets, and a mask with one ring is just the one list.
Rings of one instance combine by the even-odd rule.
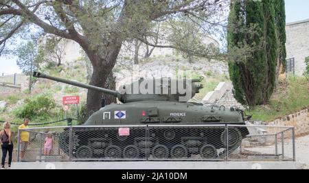
[[[83, 159], [195, 159], [217, 160], [240, 147], [247, 127], [150, 127], [133, 128], [130, 136], [118, 136], [118, 128], [74, 128], [72, 155]], [[60, 134], [60, 148], [69, 154], [69, 129]], [[229, 146], [227, 148], [227, 145]]]

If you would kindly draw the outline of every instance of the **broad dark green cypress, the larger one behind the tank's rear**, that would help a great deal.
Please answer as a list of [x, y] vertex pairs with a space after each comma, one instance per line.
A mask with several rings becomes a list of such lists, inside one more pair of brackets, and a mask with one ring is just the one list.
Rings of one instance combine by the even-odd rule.
[[229, 13], [228, 50], [243, 45], [252, 48], [242, 62], [229, 63], [234, 97], [242, 104], [265, 104], [275, 85], [277, 34], [275, 31], [275, 0], [234, 0]]

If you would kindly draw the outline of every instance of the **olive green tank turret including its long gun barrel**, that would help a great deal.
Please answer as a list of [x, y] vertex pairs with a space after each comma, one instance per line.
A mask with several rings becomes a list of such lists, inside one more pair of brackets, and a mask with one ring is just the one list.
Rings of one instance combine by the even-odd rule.
[[92, 86], [89, 84], [82, 84], [80, 82], [74, 82], [59, 77], [53, 77], [38, 72], [34, 72], [33, 76], [54, 80], [56, 82], [62, 82], [81, 88], [87, 88], [89, 90], [96, 90], [108, 95], [113, 95], [114, 97], [117, 97], [122, 103], [135, 101], [187, 102], [192, 99], [196, 93], [199, 93], [201, 88], [203, 88], [203, 85], [196, 84], [201, 82], [203, 77], [200, 77], [196, 80], [174, 80], [171, 78], [144, 80], [144, 78], [140, 78], [131, 84], [121, 86], [119, 90], [115, 91], [109, 90], [107, 88], [100, 88], [98, 86]]

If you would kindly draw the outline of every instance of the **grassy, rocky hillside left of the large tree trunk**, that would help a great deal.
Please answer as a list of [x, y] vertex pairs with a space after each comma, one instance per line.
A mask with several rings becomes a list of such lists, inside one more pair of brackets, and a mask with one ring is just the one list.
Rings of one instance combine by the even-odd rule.
[[[87, 83], [86, 68], [83, 60], [62, 64], [56, 66], [47, 64], [43, 66], [41, 72], [56, 77], [67, 78], [82, 83]], [[30, 117], [30, 123], [46, 123], [58, 121], [67, 117], [78, 119], [84, 103], [86, 101], [87, 90], [76, 86], [69, 86], [58, 82], [36, 79], [32, 87], [32, 93], [29, 90], [23, 90], [21, 93], [10, 93], [1, 95], [0, 101], [7, 102], [5, 109], [0, 110], [0, 120], [14, 123], [22, 123], [24, 117]], [[80, 105], [70, 106], [67, 112], [62, 110], [62, 96], [79, 95]], [[79, 124], [80, 121], [73, 121], [73, 124]], [[67, 125], [67, 121], [51, 125]], [[13, 126], [16, 129], [16, 126]]]

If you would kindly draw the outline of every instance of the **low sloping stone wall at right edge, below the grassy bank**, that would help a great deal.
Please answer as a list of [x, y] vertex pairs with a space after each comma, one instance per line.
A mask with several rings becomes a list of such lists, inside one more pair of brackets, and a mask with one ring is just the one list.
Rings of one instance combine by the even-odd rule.
[[290, 114], [282, 119], [276, 119], [267, 125], [294, 126], [295, 135], [309, 133], [309, 108], [295, 114]]

